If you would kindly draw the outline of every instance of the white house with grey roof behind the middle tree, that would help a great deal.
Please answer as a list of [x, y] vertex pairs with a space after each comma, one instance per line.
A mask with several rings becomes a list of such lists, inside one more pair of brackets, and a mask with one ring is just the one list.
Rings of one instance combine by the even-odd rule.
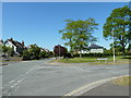
[[90, 47], [90, 52], [91, 53], [103, 53], [104, 52], [104, 47], [92, 44]]

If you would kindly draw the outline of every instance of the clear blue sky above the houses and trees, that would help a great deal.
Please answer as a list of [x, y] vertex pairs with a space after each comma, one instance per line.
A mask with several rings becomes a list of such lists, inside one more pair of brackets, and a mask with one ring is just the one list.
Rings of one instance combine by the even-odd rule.
[[56, 45], [63, 45], [59, 34], [66, 27], [64, 20], [95, 19], [99, 25], [93, 36], [96, 42], [109, 49], [112, 40], [103, 37], [103, 25], [111, 11], [128, 5], [128, 2], [3, 2], [2, 39], [24, 40], [25, 45], [37, 44], [52, 50]]

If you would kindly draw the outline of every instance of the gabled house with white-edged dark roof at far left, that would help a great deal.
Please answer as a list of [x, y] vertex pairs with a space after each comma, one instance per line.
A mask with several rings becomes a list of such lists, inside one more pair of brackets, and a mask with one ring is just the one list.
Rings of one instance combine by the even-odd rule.
[[4, 41], [4, 45], [7, 47], [11, 47], [13, 48], [14, 52], [15, 53], [22, 53], [24, 49], [26, 49], [25, 45], [24, 45], [24, 41], [22, 42], [19, 42], [16, 40], [13, 40], [13, 38], [10, 38], [8, 40]]

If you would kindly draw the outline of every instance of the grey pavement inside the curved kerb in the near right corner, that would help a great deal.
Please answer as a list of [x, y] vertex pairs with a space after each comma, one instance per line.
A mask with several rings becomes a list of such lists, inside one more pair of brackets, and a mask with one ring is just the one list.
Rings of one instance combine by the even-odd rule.
[[110, 81], [84, 93], [81, 96], [129, 96], [129, 86], [115, 85]]

